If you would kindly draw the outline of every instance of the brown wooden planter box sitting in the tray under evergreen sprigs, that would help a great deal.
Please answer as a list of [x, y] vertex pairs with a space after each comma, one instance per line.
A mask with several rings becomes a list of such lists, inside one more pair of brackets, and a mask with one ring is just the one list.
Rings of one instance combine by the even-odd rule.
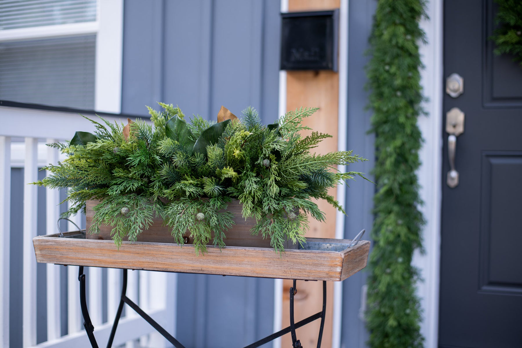
[[[112, 241], [111, 230], [112, 226], [102, 225], [100, 227], [99, 234], [89, 233], [92, 225], [92, 218], [94, 217], [94, 211], [92, 208], [98, 205], [99, 201], [89, 200], [87, 201], [87, 213], [86, 213], [86, 238], [87, 239], [100, 239], [103, 241]], [[263, 239], [261, 234], [252, 235], [250, 230], [254, 227], [255, 219], [242, 217], [242, 205], [239, 200], [232, 200], [228, 205], [228, 211], [234, 213], [234, 223], [228, 231], [225, 232], [226, 239], [224, 240], [227, 246], [243, 246], [243, 247], [259, 247], [259, 248], [271, 248], [270, 239]], [[174, 243], [174, 237], [171, 235], [171, 229], [167, 226], [162, 226], [163, 220], [159, 218], [153, 219], [152, 225], [148, 230], [141, 232], [138, 236], [138, 242], [151, 242], [151, 243]], [[188, 243], [192, 244], [193, 238], [191, 233], [186, 231], [184, 236], [187, 237]], [[127, 239], [124, 239], [125, 241]], [[213, 235], [210, 239], [209, 245], [212, 245]], [[287, 241], [284, 243], [284, 249], [297, 249], [298, 245]]]

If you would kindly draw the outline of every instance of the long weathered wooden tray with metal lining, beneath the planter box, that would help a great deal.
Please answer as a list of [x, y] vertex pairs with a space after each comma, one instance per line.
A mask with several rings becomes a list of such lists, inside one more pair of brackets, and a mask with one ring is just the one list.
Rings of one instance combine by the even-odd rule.
[[85, 239], [67, 232], [33, 238], [38, 262], [58, 265], [126, 268], [150, 271], [240, 275], [242, 277], [342, 281], [366, 267], [369, 241], [348, 248], [350, 239], [307, 238], [304, 248], [279, 254], [271, 248], [209, 247], [196, 255], [194, 246], [170, 243]]

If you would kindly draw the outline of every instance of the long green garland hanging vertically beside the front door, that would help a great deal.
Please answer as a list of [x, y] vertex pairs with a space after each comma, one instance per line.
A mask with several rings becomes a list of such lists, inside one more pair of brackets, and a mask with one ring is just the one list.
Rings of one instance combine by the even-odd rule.
[[424, 341], [418, 271], [411, 266], [424, 224], [416, 174], [422, 143], [417, 117], [424, 114], [418, 44], [425, 43], [423, 17], [424, 0], [379, 0], [370, 37], [366, 74], [377, 188], [366, 327], [375, 348], [422, 347]]

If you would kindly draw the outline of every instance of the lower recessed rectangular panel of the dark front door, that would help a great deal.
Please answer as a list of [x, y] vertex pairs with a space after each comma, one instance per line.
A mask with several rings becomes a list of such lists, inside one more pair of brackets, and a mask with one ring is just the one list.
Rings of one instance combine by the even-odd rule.
[[480, 291], [522, 294], [522, 152], [483, 153], [481, 177]]

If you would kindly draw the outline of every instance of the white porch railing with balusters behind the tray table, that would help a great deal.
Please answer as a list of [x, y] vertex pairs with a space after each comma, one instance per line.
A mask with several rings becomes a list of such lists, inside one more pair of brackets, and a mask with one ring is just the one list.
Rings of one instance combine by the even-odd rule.
[[[87, 115], [91, 116], [91, 115]], [[96, 117], [92, 115], [92, 117]], [[114, 117], [105, 117], [114, 121]], [[118, 119], [119, 121], [119, 119]], [[68, 266], [67, 270], [67, 328], [68, 334], [61, 335], [61, 279], [58, 265], [46, 265], [46, 305], [47, 341], [37, 345], [37, 263], [34, 256], [32, 238], [37, 235], [37, 186], [27, 185], [38, 179], [38, 169], [42, 164], [56, 163], [61, 154], [58, 150], [45, 147], [45, 143], [70, 139], [76, 130], [93, 131], [94, 127], [80, 115], [65, 112], [41, 111], [0, 106], [0, 346], [9, 347], [9, 313], [18, 308], [9, 308], [10, 269], [10, 200], [11, 167], [23, 167], [23, 243], [21, 250], [23, 271], [23, 309], [20, 328], [23, 347], [90, 347], [83, 329], [83, 319], [79, 307], [78, 267]], [[23, 140], [22, 140], [23, 139]], [[46, 149], [45, 149], [46, 148]], [[60, 197], [58, 190], [46, 189], [46, 234], [56, 233]], [[71, 218], [81, 226], [81, 216]], [[68, 230], [74, 231], [74, 224], [68, 223]], [[20, 267], [21, 266], [21, 267]], [[120, 302], [122, 272], [109, 269], [107, 272], [107, 305], [102, 305], [102, 269], [88, 270], [89, 314], [94, 325], [94, 335], [100, 346], [108, 340], [112, 321]], [[152, 295], [152, 296], [149, 296]], [[129, 271], [127, 296], [139, 304], [153, 319], [169, 332], [175, 334], [175, 274]], [[108, 322], [102, 322], [103, 314]], [[169, 343], [134, 311], [126, 306], [125, 317], [118, 324], [113, 346], [125, 344], [127, 348], [138, 346], [165, 347]], [[11, 328], [12, 329], [12, 328]], [[139, 343], [138, 343], [139, 341]]]

